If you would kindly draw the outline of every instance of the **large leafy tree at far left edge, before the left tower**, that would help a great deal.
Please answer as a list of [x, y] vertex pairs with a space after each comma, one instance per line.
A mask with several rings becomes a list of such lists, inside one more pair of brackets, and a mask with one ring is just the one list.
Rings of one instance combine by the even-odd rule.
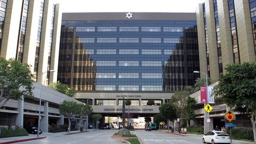
[[0, 108], [12, 98], [33, 96], [33, 74], [30, 66], [0, 57]]

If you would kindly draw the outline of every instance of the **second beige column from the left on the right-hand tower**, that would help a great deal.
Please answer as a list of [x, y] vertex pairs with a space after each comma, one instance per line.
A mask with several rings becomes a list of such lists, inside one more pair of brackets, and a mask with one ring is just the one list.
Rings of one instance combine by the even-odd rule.
[[217, 80], [219, 79], [219, 62], [217, 56], [215, 12], [212, 0], [206, 0], [205, 9], [207, 21], [207, 37], [209, 44], [210, 78], [212, 78], [213, 80]]

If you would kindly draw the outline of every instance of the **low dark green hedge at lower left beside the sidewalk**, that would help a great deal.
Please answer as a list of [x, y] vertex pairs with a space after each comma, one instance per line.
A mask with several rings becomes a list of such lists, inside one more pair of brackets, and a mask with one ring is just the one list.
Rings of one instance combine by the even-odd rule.
[[5, 127], [1, 127], [0, 138], [3, 137], [14, 137], [14, 136], [28, 136], [28, 132], [23, 128], [17, 129], [7, 129]]

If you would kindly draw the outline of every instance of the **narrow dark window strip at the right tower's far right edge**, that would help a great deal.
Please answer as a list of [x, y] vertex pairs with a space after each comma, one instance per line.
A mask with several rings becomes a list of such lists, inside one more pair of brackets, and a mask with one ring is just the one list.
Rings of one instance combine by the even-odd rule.
[[254, 36], [254, 49], [256, 55], [256, 1], [255, 0], [248, 0], [249, 1], [249, 8], [251, 10], [251, 20], [252, 20], [252, 34]]

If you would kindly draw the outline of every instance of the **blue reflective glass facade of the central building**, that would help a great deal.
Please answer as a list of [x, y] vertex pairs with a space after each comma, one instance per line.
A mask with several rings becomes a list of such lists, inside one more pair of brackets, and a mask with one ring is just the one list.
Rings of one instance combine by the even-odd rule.
[[196, 21], [62, 21], [60, 37], [57, 80], [78, 91], [181, 91], [197, 78]]

